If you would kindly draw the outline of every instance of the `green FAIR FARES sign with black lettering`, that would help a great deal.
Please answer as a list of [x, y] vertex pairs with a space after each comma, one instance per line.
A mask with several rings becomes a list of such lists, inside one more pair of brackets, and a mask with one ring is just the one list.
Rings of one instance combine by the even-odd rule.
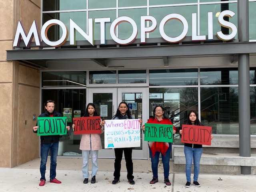
[[144, 130], [145, 141], [173, 142], [173, 125], [146, 123]]

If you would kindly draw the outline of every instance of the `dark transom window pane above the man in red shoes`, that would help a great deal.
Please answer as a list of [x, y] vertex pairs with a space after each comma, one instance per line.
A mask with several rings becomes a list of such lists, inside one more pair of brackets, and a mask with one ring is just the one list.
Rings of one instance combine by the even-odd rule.
[[86, 87], [86, 72], [42, 72], [42, 87]]

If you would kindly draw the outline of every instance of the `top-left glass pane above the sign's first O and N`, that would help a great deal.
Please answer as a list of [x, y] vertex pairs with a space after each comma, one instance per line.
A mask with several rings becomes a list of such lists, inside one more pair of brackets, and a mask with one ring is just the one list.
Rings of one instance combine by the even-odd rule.
[[43, 0], [43, 11], [86, 9], [85, 0]]

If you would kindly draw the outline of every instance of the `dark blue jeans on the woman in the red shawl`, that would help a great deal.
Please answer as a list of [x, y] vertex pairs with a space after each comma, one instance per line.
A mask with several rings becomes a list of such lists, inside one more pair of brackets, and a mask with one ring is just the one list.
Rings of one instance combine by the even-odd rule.
[[[172, 143], [169, 143], [169, 148], [165, 153], [165, 156], [162, 154], [162, 162], [164, 166], [164, 178], [169, 178], [169, 170], [170, 170], [170, 154], [172, 150]], [[151, 168], [153, 172], [153, 177], [158, 178], [158, 163], [159, 163], [159, 155], [160, 152], [156, 152], [153, 158], [152, 151], [149, 148], [149, 153], [151, 157]]]

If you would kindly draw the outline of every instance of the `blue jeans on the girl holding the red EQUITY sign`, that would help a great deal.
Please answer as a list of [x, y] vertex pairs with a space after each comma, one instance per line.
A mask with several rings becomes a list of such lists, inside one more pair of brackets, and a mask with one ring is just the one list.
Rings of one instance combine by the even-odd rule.
[[184, 154], [186, 158], [186, 178], [187, 182], [191, 182], [191, 166], [192, 160], [194, 159], [194, 181], [198, 180], [199, 175], [199, 164], [203, 148], [192, 148], [184, 146]]

